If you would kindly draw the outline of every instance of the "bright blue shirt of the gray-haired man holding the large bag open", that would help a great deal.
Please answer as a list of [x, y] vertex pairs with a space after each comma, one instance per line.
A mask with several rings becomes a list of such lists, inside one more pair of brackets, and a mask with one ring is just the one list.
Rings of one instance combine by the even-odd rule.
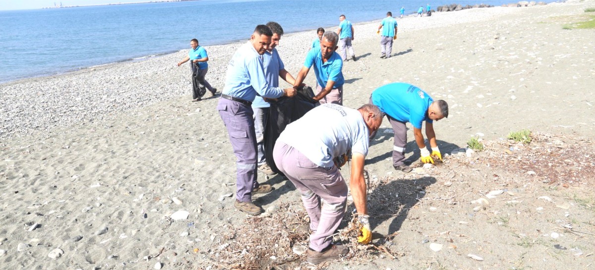
[[341, 56], [339, 56], [337, 52], [333, 52], [330, 59], [323, 64], [320, 46], [310, 49], [308, 55], [306, 55], [306, 61], [303, 63], [303, 66], [311, 68], [312, 65], [314, 65], [314, 74], [316, 74], [318, 85], [322, 88], [327, 85], [328, 80], [335, 82], [333, 88], [342, 86], [343, 83], [345, 83], [342, 71], [343, 59], [341, 59]]

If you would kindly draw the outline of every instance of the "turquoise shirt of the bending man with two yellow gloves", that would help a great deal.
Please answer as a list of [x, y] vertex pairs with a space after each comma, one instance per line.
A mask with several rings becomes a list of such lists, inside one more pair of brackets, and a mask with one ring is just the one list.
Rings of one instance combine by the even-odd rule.
[[427, 112], [434, 102], [427, 93], [408, 83], [389, 83], [372, 92], [372, 103], [390, 117], [421, 129], [424, 121], [433, 123]]

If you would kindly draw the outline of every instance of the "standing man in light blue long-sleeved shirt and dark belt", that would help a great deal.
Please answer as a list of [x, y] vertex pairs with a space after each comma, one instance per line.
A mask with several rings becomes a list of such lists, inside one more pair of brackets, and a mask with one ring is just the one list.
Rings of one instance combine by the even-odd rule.
[[273, 32], [265, 25], [256, 26], [250, 40], [237, 49], [227, 67], [226, 84], [217, 104], [217, 111], [227, 128], [231, 147], [236, 155], [236, 200], [234, 207], [249, 215], [262, 213], [252, 203], [253, 194], [269, 193], [270, 185], [256, 181], [256, 134], [252, 101], [256, 95], [264, 98], [295, 96], [293, 88], [281, 89], [268, 84], [262, 59], [271, 45]]

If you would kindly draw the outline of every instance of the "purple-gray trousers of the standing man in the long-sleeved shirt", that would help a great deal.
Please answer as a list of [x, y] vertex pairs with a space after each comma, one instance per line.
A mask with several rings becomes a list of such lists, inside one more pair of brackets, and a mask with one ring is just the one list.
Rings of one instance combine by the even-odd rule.
[[227, 128], [227, 134], [236, 155], [236, 199], [251, 202], [256, 181], [256, 134], [252, 107], [221, 98], [217, 111]]

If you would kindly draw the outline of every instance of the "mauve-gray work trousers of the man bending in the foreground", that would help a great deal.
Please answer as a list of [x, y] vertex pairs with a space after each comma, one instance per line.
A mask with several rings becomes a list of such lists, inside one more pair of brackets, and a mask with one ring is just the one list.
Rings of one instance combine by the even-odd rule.
[[330, 246], [347, 204], [347, 184], [337, 166], [322, 168], [292, 146], [275, 143], [277, 168], [296, 186], [310, 217], [310, 248], [321, 252]]

